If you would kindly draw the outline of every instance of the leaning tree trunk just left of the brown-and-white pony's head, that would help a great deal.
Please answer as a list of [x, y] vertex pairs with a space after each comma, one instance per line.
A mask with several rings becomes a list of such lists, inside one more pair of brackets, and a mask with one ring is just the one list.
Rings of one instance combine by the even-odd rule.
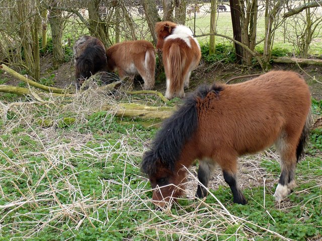
[[149, 27], [154, 45], [157, 43], [157, 36], [154, 31], [155, 24], [160, 20], [159, 15], [157, 14], [157, 8], [154, 0], [141, 0], [143, 9], [144, 9], [144, 15], [145, 20], [147, 22], [147, 26]]

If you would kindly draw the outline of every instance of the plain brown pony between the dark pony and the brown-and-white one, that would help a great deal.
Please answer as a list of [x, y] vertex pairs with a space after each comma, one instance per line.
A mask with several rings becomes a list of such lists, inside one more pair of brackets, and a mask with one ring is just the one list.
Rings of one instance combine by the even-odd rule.
[[126, 41], [112, 45], [106, 50], [109, 71], [117, 71], [120, 78], [141, 75], [144, 80], [143, 89], [154, 87], [155, 49], [146, 40]]

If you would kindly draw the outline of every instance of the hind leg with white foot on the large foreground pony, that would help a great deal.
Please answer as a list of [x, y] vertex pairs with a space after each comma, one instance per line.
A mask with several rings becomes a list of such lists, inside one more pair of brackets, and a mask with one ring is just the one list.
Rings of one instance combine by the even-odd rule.
[[276, 201], [284, 199], [295, 187], [296, 146], [294, 142], [280, 138], [275, 143], [280, 154], [281, 175], [274, 197]]

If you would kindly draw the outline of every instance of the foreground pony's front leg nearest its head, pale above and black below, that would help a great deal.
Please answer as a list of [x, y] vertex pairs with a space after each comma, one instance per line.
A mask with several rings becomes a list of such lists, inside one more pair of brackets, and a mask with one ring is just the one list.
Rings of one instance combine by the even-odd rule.
[[203, 198], [207, 196], [207, 190], [205, 187], [208, 186], [210, 176], [215, 167], [215, 164], [211, 159], [205, 159], [200, 161], [198, 169], [198, 179], [201, 182], [198, 184], [196, 197]]

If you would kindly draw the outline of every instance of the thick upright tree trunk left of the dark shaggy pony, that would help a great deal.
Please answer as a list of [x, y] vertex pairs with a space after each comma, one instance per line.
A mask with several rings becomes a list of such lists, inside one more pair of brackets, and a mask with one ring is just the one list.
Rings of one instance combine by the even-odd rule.
[[[56, 4], [57, 3], [55, 3], [55, 5]], [[64, 50], [62, 48], [62, 32], [64, 20], [62, 17], [61, 10], [50, 9], [49, 24], [51, 28], [51, 37], [53, 45], [53, 64], [54, 68], [57, 68], [59, 64], [62, 64], [64, 62]]]

